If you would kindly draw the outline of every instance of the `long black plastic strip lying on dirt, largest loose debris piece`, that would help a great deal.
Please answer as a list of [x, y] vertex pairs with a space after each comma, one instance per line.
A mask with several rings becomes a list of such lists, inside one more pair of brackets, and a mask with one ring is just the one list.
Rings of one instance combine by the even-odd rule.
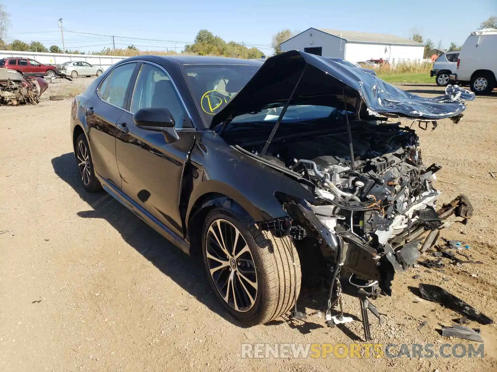
[[489, 318], [483, 312], [475, 309], [443, 288], [432, 284], [419, 284], [419, 292], [421, 293], [421, 298], [437, 302], [443, 307], [454, 310], [457, 313], [466, 316], [468, 319], [477, 321], [480, 324], [492, 324], [494, 322], [493, 319]]

